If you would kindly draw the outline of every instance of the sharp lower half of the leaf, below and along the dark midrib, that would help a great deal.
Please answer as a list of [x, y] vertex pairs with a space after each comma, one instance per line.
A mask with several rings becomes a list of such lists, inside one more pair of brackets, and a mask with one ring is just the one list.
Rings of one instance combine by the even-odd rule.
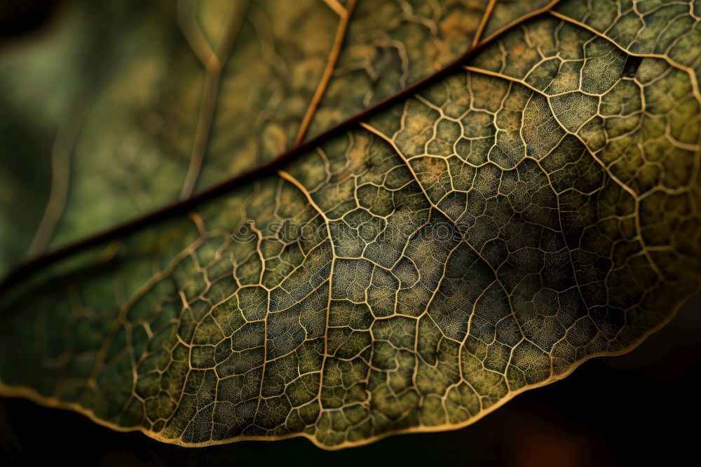
[[694, 8], [561, 1], [277, 172], [54, 257], [0, 302], [0, 392], [339, 448], [628, 351], [701, 279]]

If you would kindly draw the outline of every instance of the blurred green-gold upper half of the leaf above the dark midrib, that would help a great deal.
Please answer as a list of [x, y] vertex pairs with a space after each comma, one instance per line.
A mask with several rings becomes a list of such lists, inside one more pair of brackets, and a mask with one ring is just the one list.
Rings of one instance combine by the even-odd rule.
[[[53, 34], [0, 67], [15, 90], [0, 121], [13, 158], [0, 219], [18, 226], [0, 237], [0, 273], [251, 170], [426, 78], [470, 47], [488, 0], [344, 3], [70, 4]], [[529, 11], [500, 5], [484, 32]]]

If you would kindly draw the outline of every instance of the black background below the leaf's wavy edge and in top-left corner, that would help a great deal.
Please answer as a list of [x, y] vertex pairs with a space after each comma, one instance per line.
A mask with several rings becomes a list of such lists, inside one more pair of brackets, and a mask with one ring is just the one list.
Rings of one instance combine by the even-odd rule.
[[[56, 0], [0, 0], [2, 48], [50, 20]], [[20, 39], [18, 39], [20, 38]], [[1, 111], [1, 109], [0, 109]], [[698, 459], [701, 297], [625, 356], [517, 396], [457, 431], [327, 452], [304, 438], [203, 448], [117, 433], [74, 412], [0, 398], [1, 465], [629, 466]], [[0, 356], [1, 358], [1, 356]]]

